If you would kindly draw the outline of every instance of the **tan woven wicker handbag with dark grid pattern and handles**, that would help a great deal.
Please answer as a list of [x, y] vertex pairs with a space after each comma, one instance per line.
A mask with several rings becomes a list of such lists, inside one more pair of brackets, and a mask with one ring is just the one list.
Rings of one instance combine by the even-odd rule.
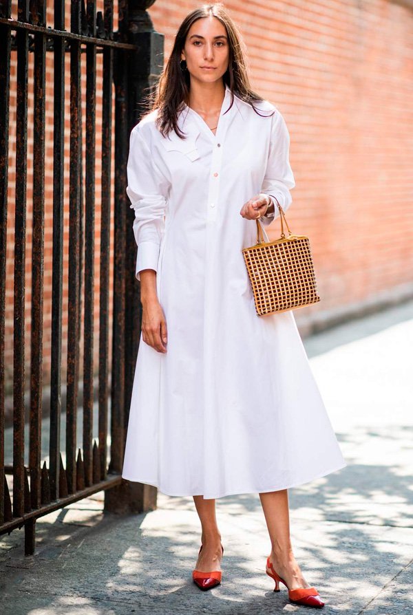
[[[320, 300], [309, 239], [291, 234], [282, 206], [278, 202], [277, 206], [281, 237], [264, 241], [257, 218], [257, 244], [242, 250], [257, 316], [297, 310]], [[288, 237], [284, 234], [283, 219]]]

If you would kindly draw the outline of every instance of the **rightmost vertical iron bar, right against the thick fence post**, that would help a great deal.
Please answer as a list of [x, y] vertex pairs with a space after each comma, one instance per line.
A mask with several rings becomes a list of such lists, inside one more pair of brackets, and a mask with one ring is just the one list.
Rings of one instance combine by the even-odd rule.
[[[128, 152], [127, 54], [116, 52], [114, 303], [112, 336], [111, 449], [109, 471], [121, 472], [125, 448], [125, 226]], [[118, 273], [117, 273], [118, 272]]]

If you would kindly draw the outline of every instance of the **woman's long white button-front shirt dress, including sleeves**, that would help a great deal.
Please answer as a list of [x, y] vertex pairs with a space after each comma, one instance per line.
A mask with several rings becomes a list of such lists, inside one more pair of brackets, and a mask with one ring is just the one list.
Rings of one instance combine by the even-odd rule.
[[186, 105], [185, 140], [156, 111], [131, 131], [136, 277], [157, 272], [167, 352], [141, 334], [122, 476], [166, 495], [274, 491], [347, 465], [293, 312], [255, 312], [242, 248], [257, 224], [240, 210], [267, 193], [286, 211], [295, 181], [282, 114], [254, 104], [261, 116], [237, 96], [229, 108], [226, 86], [215, 135]]

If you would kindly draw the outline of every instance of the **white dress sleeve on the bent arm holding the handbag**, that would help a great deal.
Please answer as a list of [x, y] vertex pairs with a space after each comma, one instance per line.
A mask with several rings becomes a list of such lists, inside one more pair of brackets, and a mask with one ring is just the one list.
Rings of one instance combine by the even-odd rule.
[[[290, 135], [286, 122], [278, 110], [275, 111], [272, 121], [270, 150], [261, 192], [275, 197], [285, 212], [293, 201], [290, 189], [295, 186], [289, 160]], [[268, 226], [277, 217], [279, 217], [279, 209], [275, 205], [275, 215], [263, 216], [261, 221], [264, 226]]]

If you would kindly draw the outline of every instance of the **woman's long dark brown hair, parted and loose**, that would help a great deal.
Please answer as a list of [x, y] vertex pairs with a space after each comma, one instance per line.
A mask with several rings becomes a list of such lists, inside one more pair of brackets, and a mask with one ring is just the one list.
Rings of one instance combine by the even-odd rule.
[[[222, 76], [224, 84], [231, 89], [231, 105], [233, 105], [234, 94], [238, 98], [248, 102], [258, 114], [253, 102], [264, 100], [251, 89], [248, 75], [246, 72], [246, 45], [237, 29], [234, 21], [229, 17], [224, 5], [221, 2], [204, 4], [202, 7], [191, 11], [184, 21], [182, 21], [176, 34], [175, 42], [167, 65], [162, 71], [156, 86], [155, 96], [149, 94], [143, 105], [149, 106], [147, 113], [158, 109], [156, 126], [163, 136], [167, 136], [169, 131], [174, 130], [180, 138], [184, 138], [184, 133], [177, 125], [178, 112], [182, 110], [182, 102], [188, 103], [190, 78], [189, 71], [182, 70], [180, 65], [180, 54], [184, 48], [187, 34], [191, 25], [202, 17], [216, 17], [224, 25], [229, 41], [229, 64], [228, 69]], [[145, 114], [147, 115], [147, 114]], [[258, 114], [261, 115], [261, 114]], [[272, 115], [272, 114], [271, 114]]]

